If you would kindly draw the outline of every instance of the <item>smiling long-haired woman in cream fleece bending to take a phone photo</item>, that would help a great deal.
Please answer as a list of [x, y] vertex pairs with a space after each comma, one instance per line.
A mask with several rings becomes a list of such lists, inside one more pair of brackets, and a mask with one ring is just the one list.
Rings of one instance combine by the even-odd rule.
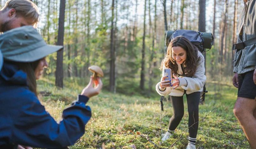
[[174, 77], [172, 82], [165, 80], [168, 76], [164, 76], [163, 73], [161, 81], [156, 85], [159, 95], [170, 95], [173, 106], [173, 115], [170, 118], [168, 131], [162, 135], [162, 140], [165, 141], [173, 135], [179, 125], [184, 115], [183, 95], [186, 94], [189, 112], [187, 149], [195, 149], [199, 120], [198, 106], [206, 81], [203, 55], [186, 37], [178, 36], [169, 43], [162, 65], [163, 71], [165, 68], [170, 68]]

